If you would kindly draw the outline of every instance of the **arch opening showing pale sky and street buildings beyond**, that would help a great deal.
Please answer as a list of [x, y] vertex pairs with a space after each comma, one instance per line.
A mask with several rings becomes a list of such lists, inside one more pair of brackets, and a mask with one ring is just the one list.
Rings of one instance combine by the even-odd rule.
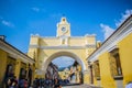
[[72, 57], [59, 56], [52, 61], [45, 79], [59, 79], [62, 84], [82, 84], [81, 66]]

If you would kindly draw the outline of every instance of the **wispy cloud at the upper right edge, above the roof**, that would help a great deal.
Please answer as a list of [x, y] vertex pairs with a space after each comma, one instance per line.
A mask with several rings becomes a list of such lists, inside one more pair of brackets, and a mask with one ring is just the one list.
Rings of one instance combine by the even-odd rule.
[[122, 18], [118, 22], [116, 22], [116, 25], [120, 26], [125, 21], [125, 19], [129, 18], [131, 14], [132, 10], [127, 10], [125, 13], [122, 13]]

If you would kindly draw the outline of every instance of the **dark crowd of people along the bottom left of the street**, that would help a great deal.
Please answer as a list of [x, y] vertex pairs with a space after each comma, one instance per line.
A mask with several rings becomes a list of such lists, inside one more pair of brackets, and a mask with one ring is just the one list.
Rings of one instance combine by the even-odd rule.
[[62, 88], [62, 85], [68, 84], [67, 80], [62, 80], [58, 78], [55, 79], [42, 79], [35, 78], [32, 85], [29, 82], [25, 77], [16, 79], [13, 74], [10, 74], [4, 79], [6, 88]]

